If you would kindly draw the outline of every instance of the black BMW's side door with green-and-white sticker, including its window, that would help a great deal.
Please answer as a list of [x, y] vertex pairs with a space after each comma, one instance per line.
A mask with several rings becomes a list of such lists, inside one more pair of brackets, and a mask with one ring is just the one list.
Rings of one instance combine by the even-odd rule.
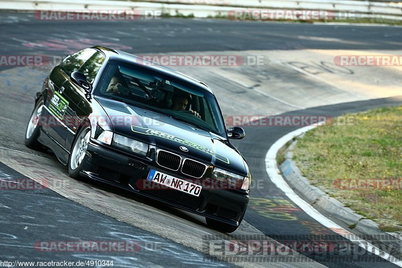
[[43, 129], [62, 147], [65, 146], [68, 134], [75, 133], [73, 122], [77, 120], [77, 115], [80, 113], [78, 104], [83, 97], [83, 95], [76, 94], [78, 89], [75, 88], [75, 84], [72, 85], [70, 75], [72, 72], [78, 71], [95, 52], [94, 49], [84, 49], [67, 56], [49, 76], [49, 84], [53, 85], [53, 89], [51, 86], [49, 87], [46, 110], [50, 117]]

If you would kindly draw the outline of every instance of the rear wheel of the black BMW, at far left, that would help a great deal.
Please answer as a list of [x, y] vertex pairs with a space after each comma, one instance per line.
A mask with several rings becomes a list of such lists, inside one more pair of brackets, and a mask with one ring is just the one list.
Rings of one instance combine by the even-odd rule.
[[25, 146], [33, 150], [44, 152], [47, 150], [47, 148], [38, 142], [39, 131], [40, 131], [40, 126], [38, 123], [40, 116], [42, 115], [42, 109], [43, 109], [42, 105], [43, 105], [43, 98], [40, 97], [35, 104], [35, 108], [32, 111], [31, 117], [27, 125], [27, 129], [25, 130]]

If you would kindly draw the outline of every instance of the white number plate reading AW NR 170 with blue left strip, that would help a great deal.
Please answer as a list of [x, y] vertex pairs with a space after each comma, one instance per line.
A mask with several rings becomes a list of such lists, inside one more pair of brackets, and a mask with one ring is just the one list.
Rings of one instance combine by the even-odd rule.
[[148, 174], [148, 181], [152, 181], [155, 183], [159, 183], [161, 185], [167, 186], [169, 188], [178, 190], [183, 193], [187, 193], [193, 196], [199, 196], [201, 193], [201, 189], [203, 189], [201, 186], [187, 182], [182, 179], [175, 178], [173, 176], [164, 174], [162, 172], [156, 171], [154, 169], [151, 169]]

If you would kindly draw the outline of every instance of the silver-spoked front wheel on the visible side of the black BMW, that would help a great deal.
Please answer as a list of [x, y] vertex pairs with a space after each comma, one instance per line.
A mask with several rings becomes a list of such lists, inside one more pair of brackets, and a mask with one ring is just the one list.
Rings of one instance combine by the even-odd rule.
[[71, 178], [80, 178], [79, 172], [82, 170], [84, 157], [88, 148], [91, 129], [89, 126], [83, 126], [78, 131], [78, 134], [72, 145], [72, 150], [68, 158], [68, 175]]

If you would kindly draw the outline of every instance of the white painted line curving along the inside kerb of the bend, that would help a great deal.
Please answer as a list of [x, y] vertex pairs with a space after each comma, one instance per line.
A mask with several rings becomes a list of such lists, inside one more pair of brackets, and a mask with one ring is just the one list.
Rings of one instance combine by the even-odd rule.
[[[320, 122], [317, 125], [322, 125], [325, 122]], [[323, 214], [318, 212], [313, 206], [311, 206], [308, 202], [300, 198], [286, 183], [283, 179], [282, 175], [280, 174], [278, 165], [276, 163], [276, 154], [280, 148], [282, 148], [288, 141], [292, 140], [294, 137], [301, 135], [302, 133], [313, 129], [317, 125], [305, 126], [299, 129], [296, 129], [290, 133], [287, 133], [285, 136], [277, 140], [271, 148], [269, 148], [266, 156], [265, 156], [265, 168], [266, 172], [269, 176], [269, 179], [281, 190], [285, 193], [285, 195], [293, 201], [297, 206], [303, 209], [310, 217], [324, 225], [325, 227], [329, 228], [330, 230], [334, 231], [335, 233], [343, 236], [344, 238], [348, 239], [349, 241], [357, 244], [358, 246], [362, 247], [363, 249], [373, 252], [375, 255], [383, 258], [399, 267], [402, 267], [402, 260], [397, 259], [396, 257], [388, 254], [387, 252], [379, 249], [378, 247], [374, 246], [373, 244], [367, 242], [364, 239], [361, 239], [357, 235], [349, 232], [348, 230], [344, 229], [340, 225], [336, 224], [332, 220], [325, 217]]]

